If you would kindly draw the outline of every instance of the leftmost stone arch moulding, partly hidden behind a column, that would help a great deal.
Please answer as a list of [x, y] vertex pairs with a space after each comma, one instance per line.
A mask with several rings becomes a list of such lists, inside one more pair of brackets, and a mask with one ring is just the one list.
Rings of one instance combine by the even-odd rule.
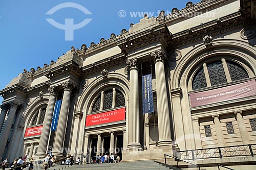
[[36, 98], [24, 111], [22, 118], [20, 119], [20, 125], [26, 127], [31, 121], [33, 114], [39, 110], [40, 107], [47, 105], [49, 101], [49, 95], [44, 95], [42, 99]]

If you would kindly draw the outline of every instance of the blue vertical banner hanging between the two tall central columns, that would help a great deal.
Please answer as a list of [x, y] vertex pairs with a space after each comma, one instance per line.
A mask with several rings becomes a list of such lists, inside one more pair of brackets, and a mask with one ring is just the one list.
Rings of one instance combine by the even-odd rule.
[[143, 114], [154, 112], [152, 74], [142, 76]]

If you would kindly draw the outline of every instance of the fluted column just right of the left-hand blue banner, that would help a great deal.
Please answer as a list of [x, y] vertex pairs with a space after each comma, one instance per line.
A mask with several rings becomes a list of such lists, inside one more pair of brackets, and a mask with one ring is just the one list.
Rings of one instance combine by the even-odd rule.
[[53, 153], [57, 158], [63, 158], [62, 148], [65, 138], [67, 118], [69, 113], [70, 96], [73, 84], [70, 82], [62, 83], [64, 87], [62, 103], [60, 107], [58, 125], [55, 132], [55, 139], [53, 143]]

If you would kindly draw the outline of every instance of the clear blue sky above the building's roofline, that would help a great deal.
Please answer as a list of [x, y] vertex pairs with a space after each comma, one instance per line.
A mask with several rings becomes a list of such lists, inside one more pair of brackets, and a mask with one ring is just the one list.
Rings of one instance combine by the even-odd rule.
[[[89, 47], [91, 42], [98, 43], [102, 37], [109, 39], [111, 33], [118, 35], [122, 29], [129, 30], [130, 23], [138, 23], [145, 12], [148, 16], [157, 16], [161, 10], [168, 13], [173, 8], [185, 8], [187, 2], [1, 0], [0, 89], [4, 89], [24, 68], [30, 71], [32, 67], [36, 70], [37, 66], [50, 64], [51, 60], [56, 61], [63, 53], [71, 50], [72, 45], [80, 49], [81, 44], [85, 43]], [[200, 0], [191, 2], [197, 3]], [[58, 6], [63, 3], [69, 4]], [[77, 9], [77, 5], [76, 8], [72, 7], [72, 3], [83, 9]], [[54, 11], [56, 6], [60, 8]], [[65, 18], [66, 25], [68, 21], [72, 21], [69, 18], [73, 18], [75, 25], [84, 19], [91, 21], [74, 30], [73, 40], [70, 40], [70, 37], [65, 36], [65, 30], [58, 29], [47, 21], [51, 18], [62, 25], [65, 25]]]

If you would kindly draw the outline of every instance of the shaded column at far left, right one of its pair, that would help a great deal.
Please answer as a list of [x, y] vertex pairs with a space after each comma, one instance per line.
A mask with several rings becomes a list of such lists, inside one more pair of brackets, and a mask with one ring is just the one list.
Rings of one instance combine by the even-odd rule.
[[10, 105], [11, 105], [11, 108], [8, 113], [8, 118], [6, 120], [5, 128], [4, 128], [2, 136], [0, 138], [0, 141], [1, 141], [0, 142], [0, 160], [2, 160], [2, 155], [4, 154], [4, 151], [5, 151], [5, 146], [6, 146], [6, 142], [8, 140], [8, 136], [9, 136], [11, 127], [12, 127], [13, 119], [15, 117], [17, 107], [20, 104], [17, 102], [11, 102]]

